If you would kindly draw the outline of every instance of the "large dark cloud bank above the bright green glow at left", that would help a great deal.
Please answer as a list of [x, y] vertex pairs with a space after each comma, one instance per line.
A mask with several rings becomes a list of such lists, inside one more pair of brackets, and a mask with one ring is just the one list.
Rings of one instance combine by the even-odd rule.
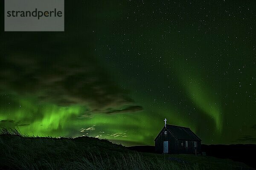
[[[139, 111], [140, 106], [116, 110], [133, 105], [128, 91], [119, 88], [105, 68], [86, 49], [75, 47], [52, 50], [50, 45], [37, 42], [29, 48], [7, 49], [0, 58], [0, 89], [20, 95], [34, 95], [39, 102], [58, 105], [86, 105], [92, 111], [112, 113]], [[4, 54], [3, 54], [4, 55]]]

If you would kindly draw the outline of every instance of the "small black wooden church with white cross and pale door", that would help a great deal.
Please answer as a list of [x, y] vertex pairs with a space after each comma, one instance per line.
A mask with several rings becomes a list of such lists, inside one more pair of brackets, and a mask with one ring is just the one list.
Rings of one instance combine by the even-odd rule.
[[189, 127], [166, 125], [157, 135], [155, 151], [157, 153], [201, 153], [201, 139]]

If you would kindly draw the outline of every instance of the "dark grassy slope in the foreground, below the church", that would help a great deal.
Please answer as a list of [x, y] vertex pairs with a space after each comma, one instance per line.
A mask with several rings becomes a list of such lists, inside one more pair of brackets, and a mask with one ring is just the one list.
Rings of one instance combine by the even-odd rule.
[[0, 130], [0, 170], [207, 170], [249, 169], [231, 160], [138, 153], [92, 137], [29, 137]]

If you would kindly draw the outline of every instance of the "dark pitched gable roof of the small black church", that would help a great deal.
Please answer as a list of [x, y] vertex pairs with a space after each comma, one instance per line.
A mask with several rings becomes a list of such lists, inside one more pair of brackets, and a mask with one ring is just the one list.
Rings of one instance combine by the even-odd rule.
[[[163, 127], [163, 129], [164, 128], [165, 127]], [[201, 141], [201, 139], [198, 138], [198, 136], [196, 136], [195, 133], [193, 133], [189, 127], [166, 125], [166, 128], [168, 130], [170, 130], [174, 134], [174, 136], [177, 137], [177, 139]], [[161, 130], [161, 132], [162, 132], [162, 130]], [[159, 136], [159, 134], [157, 135], [157, 137]], [[157, 137], [156, 137], [156, 139], [157, 139]]]

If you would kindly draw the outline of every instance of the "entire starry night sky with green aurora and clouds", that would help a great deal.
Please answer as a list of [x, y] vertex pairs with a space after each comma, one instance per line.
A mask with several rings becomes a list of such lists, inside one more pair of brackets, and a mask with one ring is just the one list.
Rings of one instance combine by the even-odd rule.
[[256, 143], [255, 6], [66, 1], [64, 32], [4, 32], [1, 12], [0, 127], [153, 145], [166, 118]]

